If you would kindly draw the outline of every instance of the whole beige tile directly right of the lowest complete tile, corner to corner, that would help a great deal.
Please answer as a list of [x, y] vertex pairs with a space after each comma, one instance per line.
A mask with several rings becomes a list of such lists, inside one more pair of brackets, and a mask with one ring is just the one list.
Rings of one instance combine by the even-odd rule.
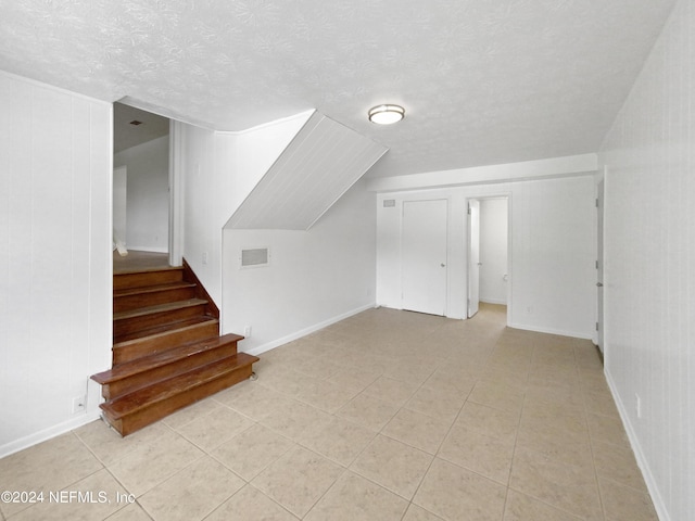
[[350, 470], [409, 500], [432, 459], [430, 454], [378, 435]]

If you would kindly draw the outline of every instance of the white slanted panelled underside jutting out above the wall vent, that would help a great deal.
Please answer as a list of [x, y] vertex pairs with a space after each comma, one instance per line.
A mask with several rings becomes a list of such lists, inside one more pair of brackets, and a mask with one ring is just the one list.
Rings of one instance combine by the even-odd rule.
[[226, 228], [307, 230], [386, 152], [315, 112]]

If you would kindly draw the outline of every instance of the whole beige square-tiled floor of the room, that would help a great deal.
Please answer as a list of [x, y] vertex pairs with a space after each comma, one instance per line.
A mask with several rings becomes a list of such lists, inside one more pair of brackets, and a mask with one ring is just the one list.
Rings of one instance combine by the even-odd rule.
[[594, 346], [504, 323], [362, 313], [126, 439], [3, 458], [0, 488], [45, 501], [2, 519], [656, 520]]

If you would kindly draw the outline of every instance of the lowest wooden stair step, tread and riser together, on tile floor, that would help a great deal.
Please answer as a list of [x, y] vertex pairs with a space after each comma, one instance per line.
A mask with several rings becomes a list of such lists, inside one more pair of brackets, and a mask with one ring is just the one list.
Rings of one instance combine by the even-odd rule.
[[239, 383], [252, 373], [258, 357], [237, 353], [218, 361], [162, 380], [100, 405], [106, 421], [126, 436], [194, 402]]

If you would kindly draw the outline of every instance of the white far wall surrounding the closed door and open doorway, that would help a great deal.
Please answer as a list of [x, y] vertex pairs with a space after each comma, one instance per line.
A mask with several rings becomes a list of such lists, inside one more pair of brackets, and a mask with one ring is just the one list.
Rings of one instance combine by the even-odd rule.
[[[596, 212], [591, 176], [518, 181], [377, 198], [377, 303], [401, 308], [403, 201], [450, 201], [447, 313], [466, 316], [468, 198], [508, 195], [511, 270], [508, 323], [520, 329], [591, 339], [595, 322]], [[384, 199], [395, 207], [383, 207]]]

